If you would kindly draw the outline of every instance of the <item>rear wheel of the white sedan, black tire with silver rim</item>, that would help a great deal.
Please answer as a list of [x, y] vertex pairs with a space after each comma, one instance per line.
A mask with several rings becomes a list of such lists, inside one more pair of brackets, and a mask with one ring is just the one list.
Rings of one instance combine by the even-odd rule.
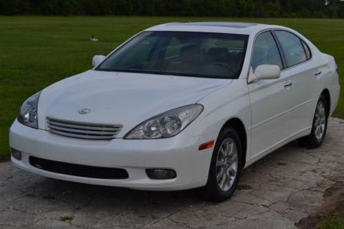
[[314, 112], [314, 118], [312, 123], [312, 131], [310, 135], [303, 138], [299, 138], [298, 142], [301, 146], [308, 148], [316, 148], [321, 146], [325, 139], [327, 130], [327, 118], [329, 116], [327, 111], [327, 102], [325, 96], [321, 95]]

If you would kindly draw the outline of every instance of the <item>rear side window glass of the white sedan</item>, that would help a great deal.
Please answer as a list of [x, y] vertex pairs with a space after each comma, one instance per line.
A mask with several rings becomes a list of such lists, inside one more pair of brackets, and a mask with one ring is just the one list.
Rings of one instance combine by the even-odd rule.
[[307, 56], [299, 37], [282, 30], [276, 30], [275, 34], [281, 43], [288, 67], [307, 61]]

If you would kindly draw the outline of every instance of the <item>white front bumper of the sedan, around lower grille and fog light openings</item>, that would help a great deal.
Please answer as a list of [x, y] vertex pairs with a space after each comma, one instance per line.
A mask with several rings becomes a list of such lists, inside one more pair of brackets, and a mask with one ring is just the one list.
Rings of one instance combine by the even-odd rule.
[[[193, 137], [182, 131], [173, 138], [160, 140], [81, 140], [32, 129], [17, 120], [10, 129], [11, 148], [22, 152], [21, 160], [12, 157], [12, 162], [24, 171], [72, 182], [140, 190], [182, 190], [204, 186], [213, 148], [198, 151], [198, 146], [216, 138], [217, 133]], [[30, 156], [71, 164], [124, 168], [129, 178], [97, 179], [52, 173], [32, 166]], [[146, 168], [171, 168], [177, 177], [149, 179]]]

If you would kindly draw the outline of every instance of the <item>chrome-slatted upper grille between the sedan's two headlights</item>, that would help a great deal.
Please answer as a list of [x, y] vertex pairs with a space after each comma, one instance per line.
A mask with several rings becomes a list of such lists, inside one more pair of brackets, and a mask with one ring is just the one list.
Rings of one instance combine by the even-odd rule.
[[47, 128], [50, 133], [69, 138], [111, 140], [120, 132], [122, 125], [73, 122], [47, 117]]

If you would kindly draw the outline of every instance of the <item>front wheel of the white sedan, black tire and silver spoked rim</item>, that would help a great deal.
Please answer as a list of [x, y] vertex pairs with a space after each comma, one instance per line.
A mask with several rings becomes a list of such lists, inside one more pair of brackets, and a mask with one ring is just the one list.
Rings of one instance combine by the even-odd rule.
[[[232, 127], [222, 129], [211, 157], [208, 182], [206, 186], [200, 188], [202, 198], [218, 202], [229, 199], [233, 195], [239, 182], [243, 163], [241, 149], [239, 135], [235, 129]], [[217, 175], [222, 175], [221, 177], [219, 176], [219, 181]]]

